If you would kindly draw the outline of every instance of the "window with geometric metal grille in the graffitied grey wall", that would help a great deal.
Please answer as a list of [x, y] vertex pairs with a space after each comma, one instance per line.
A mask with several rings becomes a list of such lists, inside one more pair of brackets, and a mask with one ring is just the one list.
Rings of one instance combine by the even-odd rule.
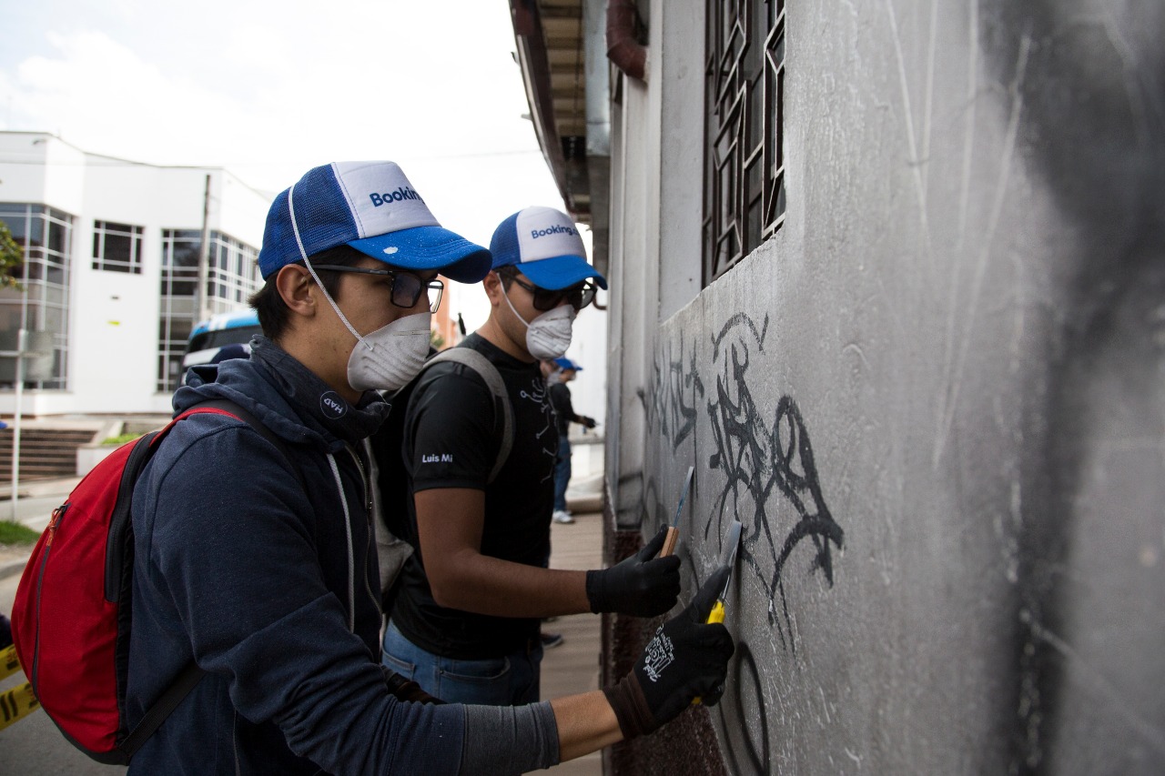
[[704, 283], [785, 218], [784, 0], [708, 0]]

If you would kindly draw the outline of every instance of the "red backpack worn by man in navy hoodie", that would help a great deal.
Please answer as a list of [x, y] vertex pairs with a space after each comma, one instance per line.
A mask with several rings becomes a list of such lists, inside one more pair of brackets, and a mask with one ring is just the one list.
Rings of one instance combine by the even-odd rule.
[[227, 400], [204, 402], [99, 463], [52, 512], [16, 588], [12, 635], [33, 692], [69, 741], [93, 760], [125, 764], [202, 679], [193, 662], [142, 718], [126, 725], [134, 485], [175, 423], [211, 412], [284, 444]]

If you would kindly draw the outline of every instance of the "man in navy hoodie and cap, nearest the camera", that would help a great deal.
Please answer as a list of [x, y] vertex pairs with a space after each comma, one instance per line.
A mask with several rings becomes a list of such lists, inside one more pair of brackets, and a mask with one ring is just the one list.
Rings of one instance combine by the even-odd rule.
[[360, 443], [387, 414], [375, 390], [404, 385], [428, 353], [438, 270], [479, 281], [489, 253], [443, 230], [396, 164], [354, 162], [275, 199], [259, 266], [266, 336], [249, 360], [196, 367], [174, 404], [230, 400], [280, 444], [199, 414], [135, 489], [129, 722], [191, 663], [203, 675], [132, 774], [516, 774], [719, 698], [732, 639], [704, 621], [727, 569], [602, 691], [483, 707], [402, 689], [379, 663]]

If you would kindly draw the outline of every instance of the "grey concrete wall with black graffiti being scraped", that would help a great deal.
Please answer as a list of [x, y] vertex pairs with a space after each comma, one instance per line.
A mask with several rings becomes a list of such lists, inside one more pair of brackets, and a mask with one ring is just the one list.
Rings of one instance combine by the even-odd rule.
[[680, 5], [613, 114], [607, 487], [651, 534], [696, 464], [689, 590], [744, 524], [699, 768], [1162, 773], [1165, 6], [790, 2], [785, 225], [672, 312]]

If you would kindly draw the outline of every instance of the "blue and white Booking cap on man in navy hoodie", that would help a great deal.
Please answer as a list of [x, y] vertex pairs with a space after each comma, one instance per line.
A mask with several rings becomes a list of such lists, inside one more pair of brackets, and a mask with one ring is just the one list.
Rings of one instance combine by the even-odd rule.
[[280, 192], [267, 213], [259, 270], [266, 280], [340, 245], [461, 283], [489, 274], [489, 252], [442, 228], [395, 162], [333, 162]]

